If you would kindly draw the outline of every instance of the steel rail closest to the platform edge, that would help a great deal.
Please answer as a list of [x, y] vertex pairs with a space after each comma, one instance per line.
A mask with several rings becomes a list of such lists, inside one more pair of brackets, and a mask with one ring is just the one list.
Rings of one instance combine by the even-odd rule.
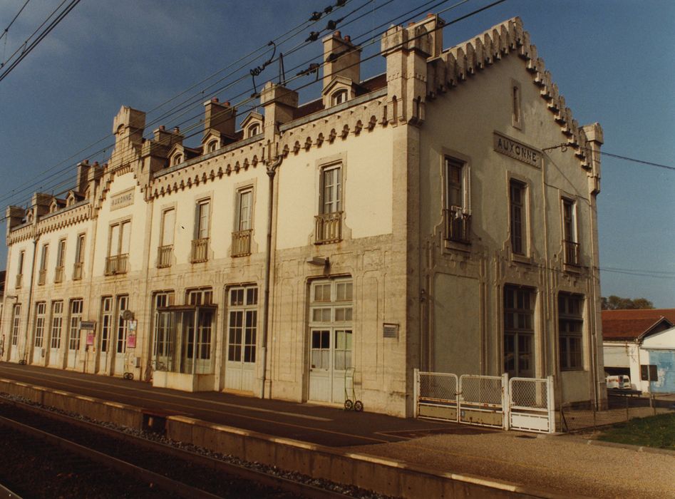
[[[116, 430], [115, 428], [108, 428], [105, 426], [98, 425], [96, 423], [91, 423], [90, 421], [84, 421], [82, 419], [73, 418], [71, 416], [66, 416], [65, 414], [56, 413], [54, 411], [49, 411], [46, 408], [41, 408], [40, 406], [33, 406], [28, 403], [23, 403], [20, 401], [11, 400], [9, 398], [3, 398], [6, 403], [11, 403], [14, 406], [20, 407], [26, 411], [31, 411], [33, 413], [39, 414], [40, 416], [45, 416], [47, 418], [54, 419], [56, 421], [61, 421], [64, 423], [72, 424], [73, 426], [79, 426], [80, 428], [86, 428], [91, 431], [96, 431], [102, 433], [106, 436], [111, 436], [113, 438], [118, 438], [119, 440], [132, 443], [134, 445], [143, 447], [149, 451], [155, 451], [167, 454], [169, 456], [174, 456], [176, 458], [182, 458], [187, 461], [191, 461], [197, 465], [207, 466], [209, 468], [222, 471], [228, 475], [233, 475], [237, 478], [242, 478], [243, 480], [250, 480], [260, 485], [267, 487], [274, 487], [285, 490], [289, 493], [294, 493], [297, 495], [306, 495], [313, 499], [337, 499], [337, 498], [346, 498], [351, 497], [344, 493], [340, 493], [334, 490], [327, 490], [324, 488], [316, 487], [315, 485], [309, 485], [297, 480], [292, 480], [290, 478], [284, 478], [281, 476], [269, 475], [269, 473], [264, 473], [262, 471], [254, 470], [252, 468], [247, 468], [246, 466], [237, 465], [235, 463], [227, 463], [226, 461], [221, 461], [220, 459], [210, 458], [208, 456], [202, 456], [201, 454], [187, 451], [185, 449], [176, 448], [169, 446], [165, 443], [155, 442], [142, 438], [139, 436], [131, 435], [130, 433], [125, 433], [123, 431]], [[5, 418], [0, 417], [0, 422]], [[74, 444], [78, 445], [78, 444]], [[113, 458], [114, 459], [114, 458]], [[133, 465], [135, 466], [135, 465]], [[154, 473], [149, 471], [148, 473]], [[158, 475], [162, 476], [162, 475]], [[165, 478], [162, 476], [162, 478]], [[155, 481], [158, 485], [162, 484], [158, 481]], [[171, 488], [173, 492], [180, 493], [179, 490]], [[195, 489], [198, 490], [198, 489]], [[203, 492], [203, 491], [202, 491]], [[207, 493], [208, 494], [208, 493]], [[195, 498], [195, 495], [187, 495], [186, 498]], [[215, 498], [215, 495], [207, 495], [202, 497]]]

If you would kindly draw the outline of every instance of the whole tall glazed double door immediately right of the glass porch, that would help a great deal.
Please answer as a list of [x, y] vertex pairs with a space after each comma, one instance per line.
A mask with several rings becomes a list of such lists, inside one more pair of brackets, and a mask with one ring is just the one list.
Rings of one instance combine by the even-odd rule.
[[258, 329], [258, 289], [230, 289], [225, 389], [254, 391]]

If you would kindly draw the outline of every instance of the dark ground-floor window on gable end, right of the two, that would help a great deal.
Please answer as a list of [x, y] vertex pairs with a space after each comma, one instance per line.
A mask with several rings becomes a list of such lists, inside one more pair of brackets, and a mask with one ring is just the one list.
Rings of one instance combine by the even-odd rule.
[[558, 294], [558, 338], [560, 369], [584, 369], [583, 328], [584, 297], [581, 294]]

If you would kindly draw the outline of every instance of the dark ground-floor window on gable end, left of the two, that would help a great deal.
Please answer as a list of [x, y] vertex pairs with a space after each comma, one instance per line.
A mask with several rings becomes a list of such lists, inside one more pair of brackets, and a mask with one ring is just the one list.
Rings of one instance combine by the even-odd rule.
[[504, 371], [509, 376], [532, 378], [534, 363], [535, 291], [504, 287]]

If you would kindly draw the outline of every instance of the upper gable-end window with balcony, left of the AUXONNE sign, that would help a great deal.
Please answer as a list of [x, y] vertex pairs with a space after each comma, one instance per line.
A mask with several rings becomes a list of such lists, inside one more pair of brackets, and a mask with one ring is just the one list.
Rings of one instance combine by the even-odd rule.
[[469, 171], [466, 163], [445, 158], [445, 239], [468, 244], [470, 239]]

